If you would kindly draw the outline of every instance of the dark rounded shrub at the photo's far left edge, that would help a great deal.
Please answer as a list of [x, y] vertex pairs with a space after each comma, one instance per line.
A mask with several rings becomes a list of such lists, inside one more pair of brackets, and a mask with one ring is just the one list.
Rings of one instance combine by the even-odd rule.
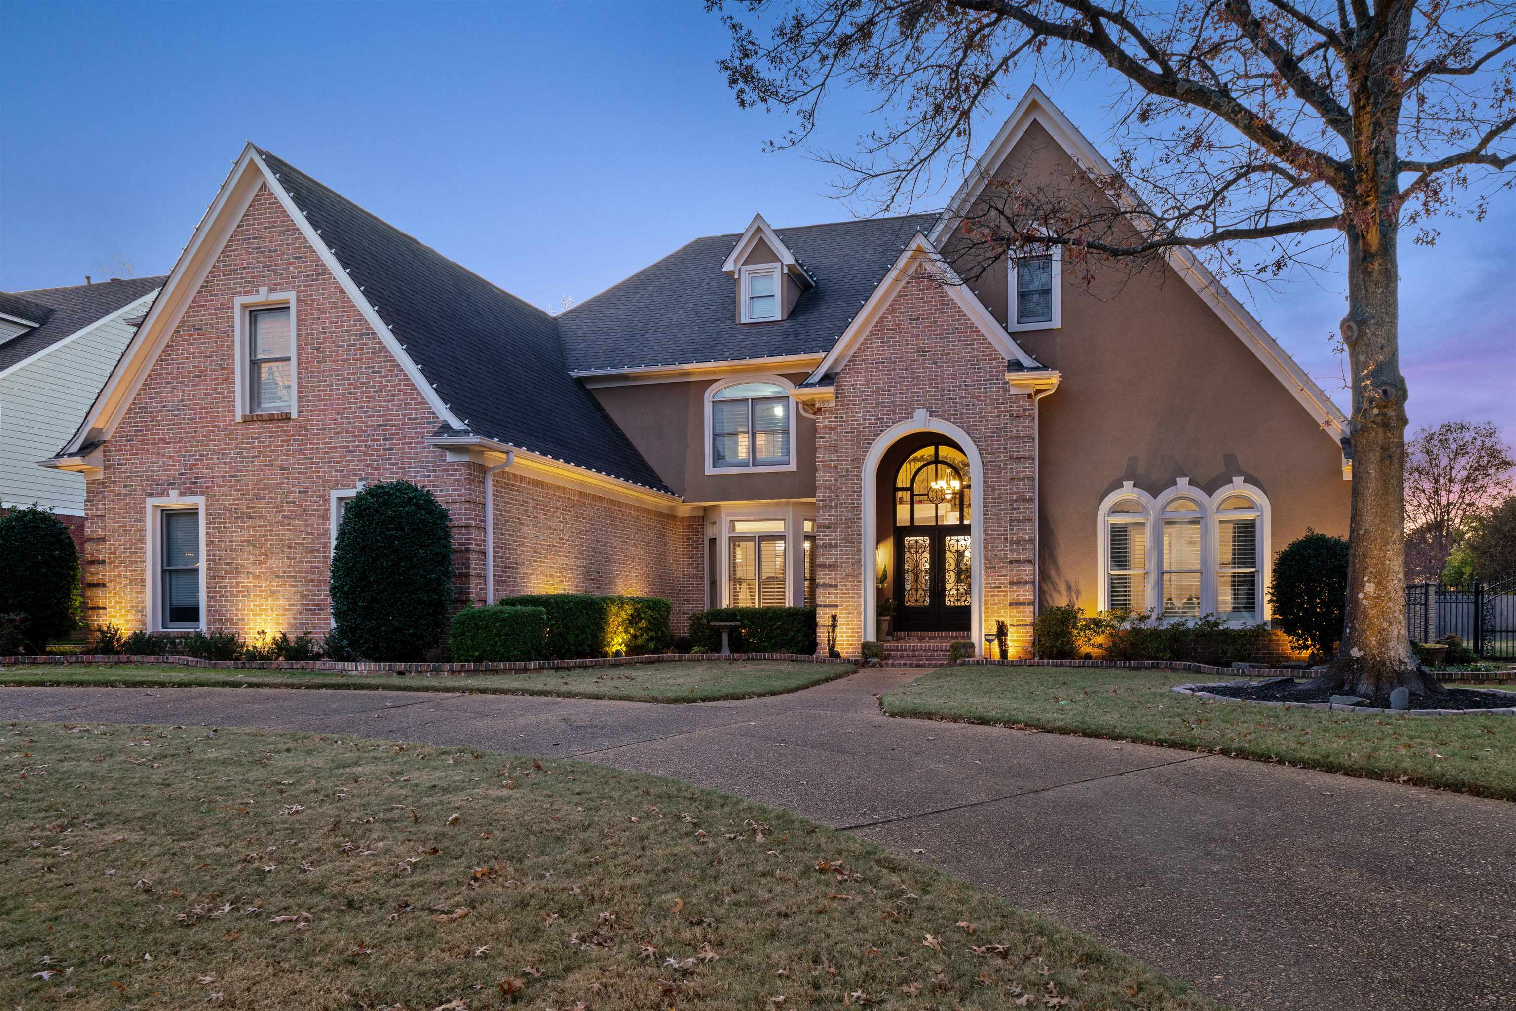
[[0, 614], [24, 614], [36, 652], [79, 624], [79, 550], [62, 521], [38, 506], [0, 515]]

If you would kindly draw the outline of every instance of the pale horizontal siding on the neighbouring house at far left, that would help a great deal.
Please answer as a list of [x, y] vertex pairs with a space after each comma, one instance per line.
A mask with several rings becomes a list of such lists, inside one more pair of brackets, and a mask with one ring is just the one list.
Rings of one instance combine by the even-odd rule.
[[0, 374], [0, 500], [83, 515], [79, 474], [47, 470], [36, 461], [56, 453], [79, 427], [100, 387], [132, 340], [124, 320], [141, 315], [147, 294], [83, 333], [59, 341], [36, 358]]

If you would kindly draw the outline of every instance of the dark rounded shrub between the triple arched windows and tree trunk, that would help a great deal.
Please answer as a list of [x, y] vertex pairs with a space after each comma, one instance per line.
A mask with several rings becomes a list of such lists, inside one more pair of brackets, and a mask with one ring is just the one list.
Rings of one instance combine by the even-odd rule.
[[1348, 541], [1305, 527], [1273, 561], [1269, 603], [1275, 626], [1296, 649], [1331, 653], [1348, 605]]

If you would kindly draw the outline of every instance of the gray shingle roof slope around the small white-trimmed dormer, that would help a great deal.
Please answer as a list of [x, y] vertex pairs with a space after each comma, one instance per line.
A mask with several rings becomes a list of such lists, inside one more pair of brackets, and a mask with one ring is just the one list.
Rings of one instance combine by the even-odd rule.
[[816, 288], [781, 323], [737, 323], [737, 288], [722, 262], [740, 233], [709, 235], [558, 317], [575, 371], [614, 371], [743, 358], [825, 353], [916, 232], [935, 214], [775, 229]]

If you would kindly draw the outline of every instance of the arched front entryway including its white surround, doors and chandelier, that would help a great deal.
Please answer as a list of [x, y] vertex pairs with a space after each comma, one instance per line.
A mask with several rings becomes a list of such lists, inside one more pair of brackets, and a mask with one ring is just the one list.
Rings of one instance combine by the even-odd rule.
[[863, 468], [866, 640], [879, 637], [879, 602], [887, 599], [896, 629], [955, 632], [979, 650], [982, 485], [969, 434], [926, 411], [875, 440]]

